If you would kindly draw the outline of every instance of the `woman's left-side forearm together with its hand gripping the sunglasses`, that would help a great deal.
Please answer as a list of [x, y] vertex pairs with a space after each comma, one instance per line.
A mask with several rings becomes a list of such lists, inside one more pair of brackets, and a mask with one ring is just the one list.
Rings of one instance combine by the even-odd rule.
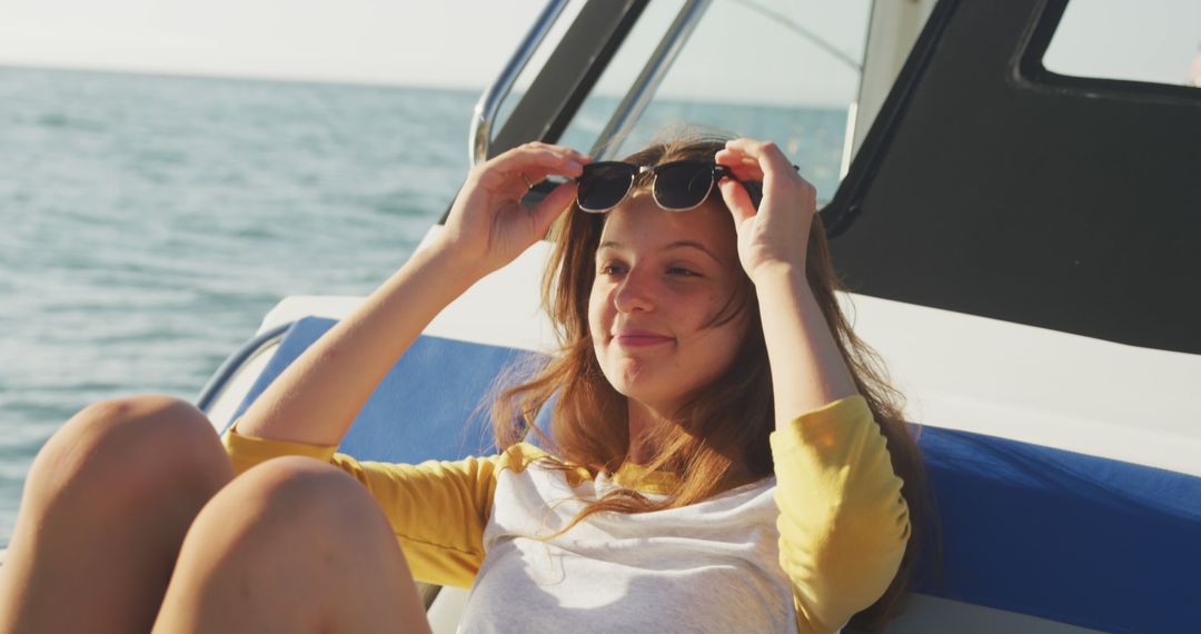
[[527, 209], [521, 199], [530, 179], [574, 179], [581, 161], [587, 157], [569, 148], [526, 143], [473, 167], [435, 244], [414, 253], [293, 361], [241, 417], [238, 431], [340, 444], [368, 397], [434, 316], [546, 235], [575, 197], [574, 181], [568, 181]]

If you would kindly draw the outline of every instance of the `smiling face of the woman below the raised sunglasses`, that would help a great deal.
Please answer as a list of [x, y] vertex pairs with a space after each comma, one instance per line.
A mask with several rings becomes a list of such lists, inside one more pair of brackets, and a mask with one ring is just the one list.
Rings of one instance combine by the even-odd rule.
[[716, 378], [746, 333], [745, 312], [728, 318], [739, 267], [730, 214], [712, 198], [675, 213], [635, 192], [609, 211], [588, 300], [609, 383], [670, 415], [691, 390]]

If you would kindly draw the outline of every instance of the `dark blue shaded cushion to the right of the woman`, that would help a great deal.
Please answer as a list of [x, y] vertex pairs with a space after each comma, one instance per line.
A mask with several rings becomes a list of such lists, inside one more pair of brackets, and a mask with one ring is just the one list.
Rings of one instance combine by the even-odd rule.
[[918, 590], [1105, 632], [1201, 628], [1201, 478], [925, 427], [942, 579]]

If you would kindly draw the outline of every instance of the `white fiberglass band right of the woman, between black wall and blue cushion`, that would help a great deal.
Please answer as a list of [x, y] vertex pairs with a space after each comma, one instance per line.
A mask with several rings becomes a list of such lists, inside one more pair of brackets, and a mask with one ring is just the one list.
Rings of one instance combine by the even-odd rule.
[[1201, 476], [1201, 355], [844, 295], [906, 415]]

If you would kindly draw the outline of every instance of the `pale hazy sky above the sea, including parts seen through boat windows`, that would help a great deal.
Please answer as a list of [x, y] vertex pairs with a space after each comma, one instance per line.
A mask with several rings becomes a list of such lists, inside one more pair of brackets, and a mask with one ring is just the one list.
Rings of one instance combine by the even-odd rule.
[[[482, 90], [545, 4], [0, 0], [0, 65]], [[773, 85], [767, 78], [782, 65], [795, 66], [809, 71], [803, 85], [775, 98], [766, 95], [769, 100], [846, 102], [856, 82], [854, 71], [789, 35], [781, 20], [747, 11], [751, 5], [779, 8], [846, 56], [862, 56], [868, 0], [716, 0], [698, 28], [703, 43], [686, 48], [675, 72], [699, 79], [693, 85], [712, 84], [715, 92], [758, 95]], [[647, 17], [670, 19], [677, 6], [680, 0], [655, 0]], [[790, 43], [784, 50], [758, 50], [754, 44], [772, 31], [791, 37], [785, 40]], [[632, 37], [638, 36], [635, 30]], [[645, 42], [644, 48], [651, 46]], [[1076, 0], [1047, 65], [1080, 74], [1183, 83], [1199, 47], [1201, 0]], [[631, 68], [626, 76], [637, 73], [633, 60], [619, 62]], [[613, 73], [602, 90], [621, 85], [622, 76]], [[705, 80], [718, 76], [724, 76], [724, 85]], [[681, 88], [669, 82], [663, 90]]]

